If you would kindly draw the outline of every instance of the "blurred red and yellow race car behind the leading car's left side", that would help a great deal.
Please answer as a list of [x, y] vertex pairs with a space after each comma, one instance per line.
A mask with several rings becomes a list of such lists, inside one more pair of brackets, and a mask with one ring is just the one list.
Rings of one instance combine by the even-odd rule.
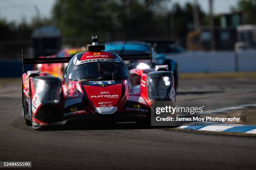
[[[58, 52], [56, 55], [51, 55], [47, 57], [73, 57], [75, 54], [79, 52], [84, 52], [85, 50], [86, 49], [84, 47], [66, 48]], [[45, 58], [45, 56], [41, 56], [39, 58]], [[48, 72], [50, 75], [56, 77], [62, 77], [66, 67], [67, 63], [37, 64], [33, 67], [33, 70], [40, 70], [41, 72]]]

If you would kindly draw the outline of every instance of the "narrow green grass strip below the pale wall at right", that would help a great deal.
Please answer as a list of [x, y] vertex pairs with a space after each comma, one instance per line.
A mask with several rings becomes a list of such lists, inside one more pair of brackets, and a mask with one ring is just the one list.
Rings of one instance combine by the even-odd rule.
[[256, 72], [180, 73], [179, 78], [189, 79], [251, 79], [256, 80]]

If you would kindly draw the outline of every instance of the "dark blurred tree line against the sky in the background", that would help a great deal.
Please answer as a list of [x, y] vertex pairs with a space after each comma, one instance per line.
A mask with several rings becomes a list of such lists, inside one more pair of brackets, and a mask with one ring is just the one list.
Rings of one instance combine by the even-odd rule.
[[[240, 0], [233, 11], [248, 15], [256, 23], [256, 0]], [[200, 27], [209, 26], [209, 17], [198, 7]], [[50, 18], [34, 17], [20, 23], [0, 18], [0, 57], [31, 45], [34, 29], [54, 25], [61, 30], [64, 44], [80, 46], [98, 35], [110, 40], [179, 40], [185, 45], [187, 32], [193, 30], [193, 4], [179, 5], [172, 0], [56, 0]], [[215, 25], [219, 25], [215, 16]]]

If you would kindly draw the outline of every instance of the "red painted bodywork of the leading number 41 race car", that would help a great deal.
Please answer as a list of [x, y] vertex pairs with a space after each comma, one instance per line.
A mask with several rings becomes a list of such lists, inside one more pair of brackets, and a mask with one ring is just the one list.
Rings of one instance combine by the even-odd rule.
[[[100, 57], [100, 55], [102, 56]], [[85, 52], [84, 55], [82, 55], [81, 60], [102, 57], [110, 59], [115, 58], [115, 56], [109, 52]], [[116, 107], [117, 112], [120, 115], [128, 114], [146, 117], [148, 112], [151, 110], [151, 104], [154, 102], [148, 99], [148, 92], [146, 88], [147, 74], [149, 72], [154, 72], [154, 69], [133, 69], [130, 71], [131, 74], [136, 74], [141, 77], [139, 88], [132, 86], [131, 77], [119, 80], [119, 82], [112, 82], [113, 84], [107, 84], [106, 86], [86, 85], [80, 80], [69, 81], [68, 84], [66, 84], [66, 81], [62, 81], [62, 103], [59, 104], [60, 111], [58, 112], [61, 119], [59, 121], [69, 120], [81, 115], [84, 115], [84, 117], [93, 117], [95, 116], [95, 110], [99, 107]], [[40, 74], [40, 76], [47, 75], [49, 74], [46, 72], [41, 72]], [[24, 73], [22, 78], [23, 95], [27, 99], [27, 104], [29, 104], [28, 98], [32, 101], [33, 96], [36, 95], [36, 90], [32, 82], [33, 76], [28, 77], [27, 74]], [[172, 87], [174, 87], [173, 83]], [[170, 102], [174, 103], [171, 99]], [[72, 104], [70, 105], [70, 103]], [[39, 106], [38, 109], [40, 107], [41, 106]], [[138, 109], [136, 110], [136, 108]], [[143, 109], [143, 111], [140, 109]], [[72, 112], [74, 112], [74, 114]], [[48, 125], [53, 123], [37, 119], [37, 112], [32, 112], [32, 114], [32, 123], [36, 122], [39, 125]]]

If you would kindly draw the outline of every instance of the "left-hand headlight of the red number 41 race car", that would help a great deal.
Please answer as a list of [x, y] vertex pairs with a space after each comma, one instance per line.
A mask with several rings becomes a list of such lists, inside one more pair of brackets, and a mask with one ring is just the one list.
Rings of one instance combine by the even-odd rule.
[[43, 104], [58, 104], [60, 102], [61, 82], [33, 78], [36, 92]]

